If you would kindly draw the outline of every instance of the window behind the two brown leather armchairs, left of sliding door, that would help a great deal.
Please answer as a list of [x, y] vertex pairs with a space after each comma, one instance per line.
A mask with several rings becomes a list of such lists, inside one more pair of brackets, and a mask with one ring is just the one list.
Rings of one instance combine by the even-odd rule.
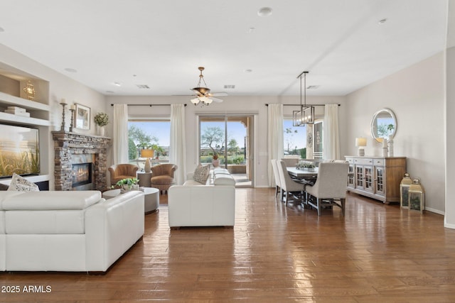
[[144, 168], [146, 158], [168, 162], [171, 121], [130, 119], [128, 121], [129, 162]]

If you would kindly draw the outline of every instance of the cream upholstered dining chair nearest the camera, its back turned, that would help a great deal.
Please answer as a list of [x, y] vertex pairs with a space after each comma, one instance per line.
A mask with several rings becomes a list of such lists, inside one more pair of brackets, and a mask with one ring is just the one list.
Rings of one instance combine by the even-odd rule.
[[348, 162], [322, 162], [319, 164], [318, 178], [313, 186], [306, 185], [306, 203], [318, 210], [322, 207], [339, 206], [344, 216], [346, 204], [346, 182]]

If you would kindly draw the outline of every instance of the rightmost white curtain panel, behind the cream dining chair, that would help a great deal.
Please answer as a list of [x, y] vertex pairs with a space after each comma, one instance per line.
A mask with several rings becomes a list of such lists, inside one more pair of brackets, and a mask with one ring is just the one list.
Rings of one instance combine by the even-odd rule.
[[338, 128], [338, 104], [324, 106], [324, 150], [323, 158], [340, 160], [340, 131]]

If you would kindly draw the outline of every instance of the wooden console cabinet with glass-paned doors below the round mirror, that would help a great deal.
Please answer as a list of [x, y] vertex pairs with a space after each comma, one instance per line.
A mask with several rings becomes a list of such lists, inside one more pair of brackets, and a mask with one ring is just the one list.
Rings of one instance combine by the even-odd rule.
[[400, 182], [406, 172], [406, 157], [345, 158], [350, 172], [348, 191], [384, 203], [400, 202]]

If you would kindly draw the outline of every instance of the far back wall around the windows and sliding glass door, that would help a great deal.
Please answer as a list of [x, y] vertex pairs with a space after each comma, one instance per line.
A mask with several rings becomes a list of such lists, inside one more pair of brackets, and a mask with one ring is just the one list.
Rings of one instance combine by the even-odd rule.
[[[283, 103], [299, 104], [299, 97], [223, 97], [223, 103], [213, 103], [210, 106], [194, 106], [190, 97], [107, 97], [109, 104], [171, 104], [184, 103], [186, 106], [186, 171], [194, 170], [198, 163], [198, 114], [254, 114], [255, 115], [255, 187], [268, 187], [267, 169], [267, 106], [265, 104]], [[309, 97], [307, 104], [338, 103], [340, 116], [346, 114], [344, 97]], [[285, 106], [285, 114], [292, 116], [294, 106]], [[322, 108], [321, 108], [322, 109]], [[169, 117], [169, 106], [129, 106], [130, 116]], [[112, 109], [109, 111], [112, 114]], [[322, 111], [323, 113], [323, 111]], [[346, 124], [341, 123], [341, 142], [346, 136]]]

